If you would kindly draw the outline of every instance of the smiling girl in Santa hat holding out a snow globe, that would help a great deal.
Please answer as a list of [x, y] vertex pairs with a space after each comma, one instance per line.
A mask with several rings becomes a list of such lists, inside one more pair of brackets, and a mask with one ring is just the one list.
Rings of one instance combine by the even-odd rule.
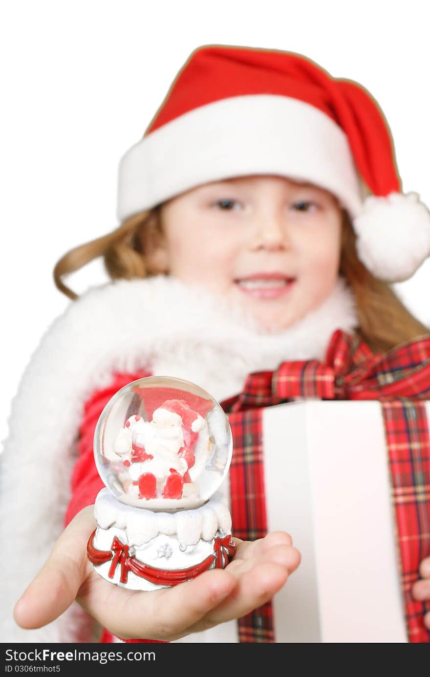
[[[429, 255], [429, 212], [416, 194], [400, 193], [385, 119], [360, 85], [298, 54], [205, 46], [122, 158], [118, 216], [117, 230], [56, 265], [70, 299], [64, 276], [95, 257], [114, 283], [89, 290], [53, 323], [14, 400], [2, 493], [17, 563], [5, 573], [9, 609], [66, 529], [15, 607], [18, 626], [39, 629], [3, 636], [88, 641], [100, 636], [95, 619], [104, 641], [109, 633], [237, 641], [235, 619], [267, 603], [299, 565], [291, 537], [236, 539], [227, 569], [169, 590], [106, 584], [85, 554], [102, 488], [98, 417], [142, 376], [191, 380], [228, 411], [250, 372], [328, 359], [336, 330], [374, 353], [427, 334], [388, 283]], [[239, 500], [233, 475], [224, 489]], [[425, 499], [415, 600], [430, 598]], [[68, 609], [75, 598], [87, 614]], [[429, 615], [414, 604], [410, 638], [428, 641]], [[251, 641], [273, 641], [261, 628]]]

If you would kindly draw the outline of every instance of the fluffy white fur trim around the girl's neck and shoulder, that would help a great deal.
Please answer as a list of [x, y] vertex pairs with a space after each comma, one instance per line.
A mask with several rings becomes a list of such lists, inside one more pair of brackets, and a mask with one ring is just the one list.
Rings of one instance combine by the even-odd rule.
[[341, 279], [319, 308], [278, 334], [262, 333], [222, 299], [165, 276], [119, 280], [71, 303], [33, 354], [9, 417], [1, 514], [20, 573], [3, 558], [4, 640], [79, 639], [80, 610], [78, 624], [70, 611], [47, 628], [23, 631], [12, 626], [11, 609], [62, 530], [83, 405], [114, 370], [150, 368], [186, 378], [221, 401], [242, 389], [249, 372], [285, 359], [323, 359], [332, 332], [351, 332], [357, 324], [353, 295]]

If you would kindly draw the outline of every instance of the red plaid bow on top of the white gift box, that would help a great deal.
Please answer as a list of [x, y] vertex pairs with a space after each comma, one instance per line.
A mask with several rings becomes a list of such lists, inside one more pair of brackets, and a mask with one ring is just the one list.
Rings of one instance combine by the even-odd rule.
[[325, 362], [282, 362], [274, 372], [249, 374], [240, 395], [225, 400], [228, 412], [267, 407], [295, 397], [318, 399], [430, 399], [430, 337], [372, 353], [356, 335], [332, 334]]

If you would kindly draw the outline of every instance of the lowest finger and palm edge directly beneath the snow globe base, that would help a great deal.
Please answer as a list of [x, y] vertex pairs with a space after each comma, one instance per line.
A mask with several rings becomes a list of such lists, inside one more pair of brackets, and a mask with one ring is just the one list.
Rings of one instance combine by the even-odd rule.
[[173, 640], [187, 634], [188, 626], [217, 607], [237, 584], [225, 569], [151, 592], [126, 590], [100, 579], [99, 586], [91, 585], [79, 602], [116, 636]]

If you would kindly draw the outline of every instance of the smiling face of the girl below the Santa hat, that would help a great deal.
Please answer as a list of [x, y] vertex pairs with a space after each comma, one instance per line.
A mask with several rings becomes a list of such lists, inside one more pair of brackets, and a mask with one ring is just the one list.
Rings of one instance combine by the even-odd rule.
[[254, 175], [198, 186], [160, 211], [158, 264], [282, 330], [318, 307], [339, 273], [342, 212], [326, 190]]

